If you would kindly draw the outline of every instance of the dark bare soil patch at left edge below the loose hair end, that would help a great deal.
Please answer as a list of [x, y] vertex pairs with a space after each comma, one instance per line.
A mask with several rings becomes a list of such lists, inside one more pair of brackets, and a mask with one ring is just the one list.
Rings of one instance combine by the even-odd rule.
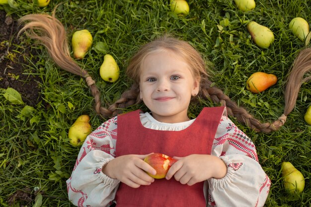
[[17, 18], [5, 15], [5, 11], [0, 10], [0, 88], [14, 88], [27, 105], [35, 106], [41, 100], [38, 87], [41, 79], [25, 74], [29, 64], [25, 58], [35, 51], [31, 51], [31, 47], [20, 47]]

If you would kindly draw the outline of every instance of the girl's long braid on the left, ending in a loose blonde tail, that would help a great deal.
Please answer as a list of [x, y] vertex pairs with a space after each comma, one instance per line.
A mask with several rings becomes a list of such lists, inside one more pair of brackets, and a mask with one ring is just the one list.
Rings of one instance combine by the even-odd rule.
[[66, 31], [63, 24], [55, 18], [55, 11], [56, 8], [54, 8], [52, 16], [47, 14], [28, 14], [21, 17], [18, 23], [27, 23], [20, 29], [18, 35], [24, 31], [28, 37], [39, 40], [39, 42], [46, 47], [50, 57], [60, 68], [84, 77], [94, 97], [95, 111], [103, 118], [115, 116], [120, 111], [118, 108], [125, 108], [139, 102], [139, 87], [133, 86], [108, 108], [101, 105], [100, 92], [95, 81], [88, 72], [85, 69], [81, 69], [70, 56]]

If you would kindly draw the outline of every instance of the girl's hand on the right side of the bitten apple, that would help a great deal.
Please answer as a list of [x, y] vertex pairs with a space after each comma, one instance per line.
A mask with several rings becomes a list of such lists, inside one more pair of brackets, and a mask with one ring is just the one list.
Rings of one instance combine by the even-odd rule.
[[173, 157], [175, 162], [168, 170], [166, 179], [174, 176], [176, 181], [189, 186], [209, 178], [223, 178], [227, 174], [227, 166], [217, 156], [208, 154], [191, 154], [186, 157]]

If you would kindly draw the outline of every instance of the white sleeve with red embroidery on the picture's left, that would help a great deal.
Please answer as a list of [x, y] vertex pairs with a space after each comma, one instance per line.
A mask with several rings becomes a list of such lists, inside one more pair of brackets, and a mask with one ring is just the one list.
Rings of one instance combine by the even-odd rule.
[[114, 200], [119, 181], [102, 173], [102, 166], [115, 157], [117, 117], [85, 139], [71, 177], [67, 180], [70, 201], [78, 207], [106, 207]]

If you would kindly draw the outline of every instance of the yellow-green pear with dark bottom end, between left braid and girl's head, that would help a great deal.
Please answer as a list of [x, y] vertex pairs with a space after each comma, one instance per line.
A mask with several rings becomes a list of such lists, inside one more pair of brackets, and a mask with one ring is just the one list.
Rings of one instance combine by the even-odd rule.
[[99, 69], [100, 77], [107, 82], [115, 82], [120, 75], [119, 67], [114, 58], [107, 54]]

